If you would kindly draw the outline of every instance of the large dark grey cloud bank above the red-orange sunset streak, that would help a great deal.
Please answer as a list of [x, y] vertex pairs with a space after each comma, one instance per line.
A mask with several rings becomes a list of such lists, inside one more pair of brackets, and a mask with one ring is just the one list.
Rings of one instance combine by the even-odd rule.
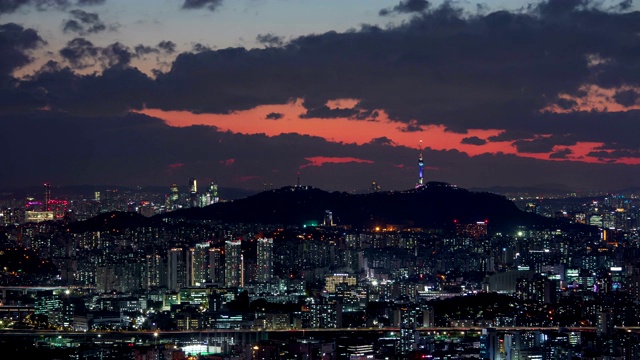
[[[614, 11], [599, 3], [555, 0], [468, 15], [447, 2], [385, 28], [365, 25], [256, 49], [194, 45], [177, 54], [171, 68], [158, 73], [137, 98], [149, 108], [218, 114], [304, 99], [304, 117], [370, 120], [380, 111], [406, 129], [500, 130], [486, 140], [527, 140], [514, 144], [525, 151], [552, 151], [557, 139], [543, 139], [569, 133], [574, 143], [632, 150], [640, 146], [640, 138], [631, 135], [640, 131], [637, 112], [581, 112], [572, 100], [583, 97], [585, 87], [596, 86], [617, 94], [612, 101], [630, 104], [633, 93], [625, 89], [640, 88], [640, 58], [632, 50], [640, 12]], [[220, 2], [191, 3], [211, 4]], [[72, 68], [92, 62], [103, 68], [130, 66], [126, 48], [112, 49], [120, 50], [118, 57], [115, 51], [107, 56], [103, 47], [85, 45], [63, 49]], [[128, 52], [140, 56], [148, 49], [159, 50]], [[19, 90], [34, 89], [32, 96], [57, 106], [62, 105], [57, 98], [66, 98], [69, 109], [82, 107], [82, 96], [76, 104], [68, 94], [54, 91], [59, 87], [37, 88], [29, 82], [38, 83], [37, 76], [25, 79]], [[357, 99], [357, 104], [327, 105], [335, 99]], [[118, 109], [131, 105], [122, 100]], [[567, 111], [545, 112], [549, 106]]]

